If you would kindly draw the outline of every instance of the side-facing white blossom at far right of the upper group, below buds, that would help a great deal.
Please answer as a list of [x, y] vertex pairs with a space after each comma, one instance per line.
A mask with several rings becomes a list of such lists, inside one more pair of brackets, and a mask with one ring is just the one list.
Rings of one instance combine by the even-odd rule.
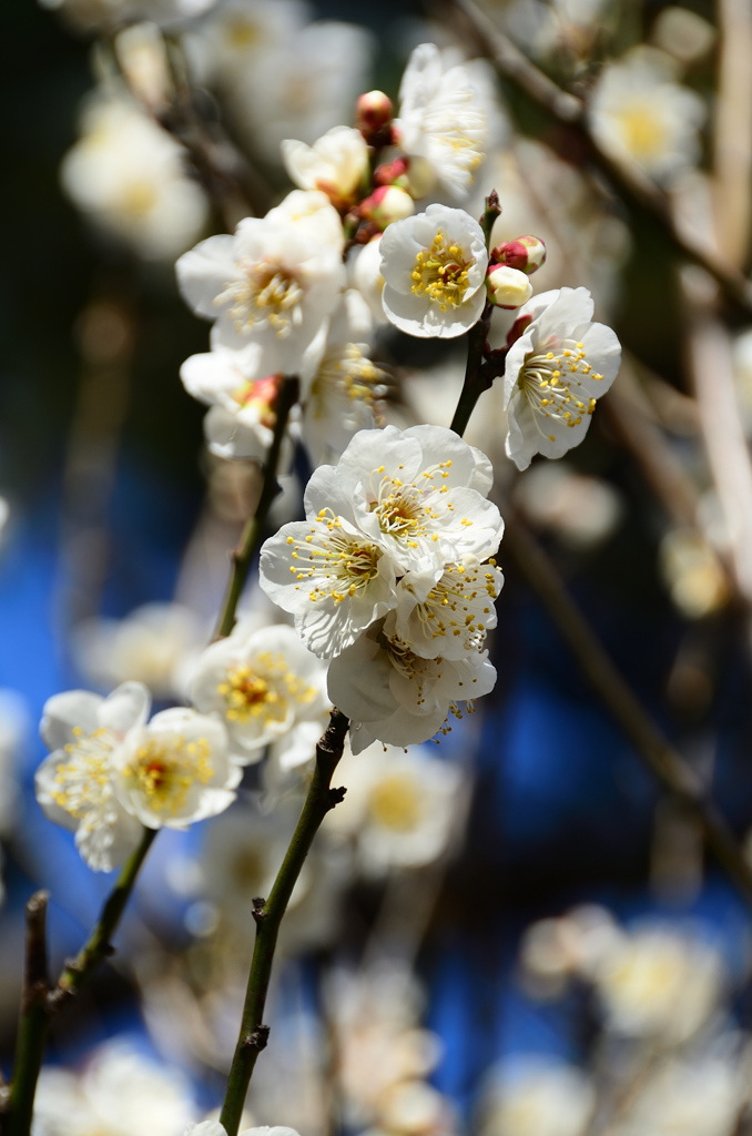
[[519, 310], [529, 320], [507, 356], [507, 456], [527, 469], [536, 453], [561, 458], [578, 445], [616, 378], [621, 349], [604, 324], [593, 324], [587, 289], [543, 292]]

